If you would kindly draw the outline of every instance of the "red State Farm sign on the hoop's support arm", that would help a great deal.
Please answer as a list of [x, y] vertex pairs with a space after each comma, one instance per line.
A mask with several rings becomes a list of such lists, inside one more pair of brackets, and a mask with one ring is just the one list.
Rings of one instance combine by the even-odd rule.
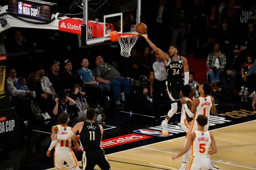
[[59, 21], [59, 31], [80, 34], [83, 19], [81, 18], [67, 18]]

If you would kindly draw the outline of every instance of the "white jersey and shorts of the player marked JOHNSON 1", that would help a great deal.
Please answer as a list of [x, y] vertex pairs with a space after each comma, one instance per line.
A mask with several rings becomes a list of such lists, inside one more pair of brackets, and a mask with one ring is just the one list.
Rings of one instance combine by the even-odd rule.
[[[211, 96], [207, 95], [206, 97], [199, 97], [197, 99], [199, 100], [199, 105], [196, 107], [196, 114], [194, 115], [194, 120], [192, 121], [192, 123], [188, 129], [186, 138], [188, 138], [188, 134], [190, 132], [197, 130], [198, 127], [197, 127], [196, 118], [198, 115], [205, 115], [208, 119], [210, 117], [210, 111], [212, 108]], [[209, 121], [208, 121], [207, 125], [204, 126], [204, 130], [208, 130], [208, 128], [209, 128]]]

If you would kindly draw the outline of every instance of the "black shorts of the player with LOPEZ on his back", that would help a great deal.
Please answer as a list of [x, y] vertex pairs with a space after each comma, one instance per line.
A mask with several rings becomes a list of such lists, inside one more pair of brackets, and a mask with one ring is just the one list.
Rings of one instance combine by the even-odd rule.
[[83, 154], [82, 169], [93, 170], [95, 165], [98, 165], [102, 170], [110, 170], [108, 159], [104, 155], [104, 150], [86, 151]]

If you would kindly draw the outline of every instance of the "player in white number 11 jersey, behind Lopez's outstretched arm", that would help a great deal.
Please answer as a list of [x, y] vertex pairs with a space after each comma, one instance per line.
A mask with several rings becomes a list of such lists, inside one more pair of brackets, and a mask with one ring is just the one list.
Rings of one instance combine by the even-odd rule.
[[[58, 117], [58, 121], [60, 122], [60, 125], [53, 126], [52, 133], [62, 135], [67, 134], [71, 131], [72, 128], [67, 126], [67, 123], [69, 121], [67, 113], [61, 113]], [[73, 140], [73, 143], [76, 147], [76, 150], [78, 150], [79, 144], [77, 143], [77, 141]], [[56, 169], [62, 169], [64, 161], [66, 161], [69, 168], [73, 168], [74, 170], [80, 170], [76, 155], [71, 149], [71, 137], [67, 140], [53, 140], [49, 149], [46, 152], [47, 156], [51, 156], [51, 150], [54, 146], [54, 166]]]

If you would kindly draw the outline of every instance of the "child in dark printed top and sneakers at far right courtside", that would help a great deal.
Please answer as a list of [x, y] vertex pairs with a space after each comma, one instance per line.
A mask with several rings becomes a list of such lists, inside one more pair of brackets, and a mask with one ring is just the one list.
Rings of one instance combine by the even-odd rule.
[[241, 65], [241, 74], [242, 74], [242, 78], [243, 78], [243, 81], [242, 81], [241, 85], [243, 85], [243, 86], [241, 86], [241, 91], [239, 92], [240, 95], [248, 95], [248, 93], [249, 93], [248, 92], [249, 85], [253, 85], [253, 86], [255, 85], [252, 82], [246, 81], [246, 77], [245, 77], [245, 75], [248, 74], [248, 72], [250, 71], [252, 66], [253, 66], [252, 57], [250, 55], [248, 55], [247, 56], [247, 61], [244, 62]]

